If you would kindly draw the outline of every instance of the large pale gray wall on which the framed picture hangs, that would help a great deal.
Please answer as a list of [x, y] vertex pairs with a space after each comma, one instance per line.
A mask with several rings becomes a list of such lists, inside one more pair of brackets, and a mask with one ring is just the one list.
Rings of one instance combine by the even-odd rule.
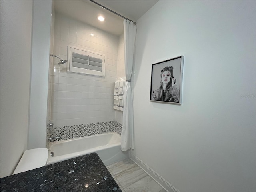
[[[159, 1], [137, 22], [132, 156], [181, 192], [255, 191], [255, 1]], [[151, 66], [184, 55], [182, 105]]]

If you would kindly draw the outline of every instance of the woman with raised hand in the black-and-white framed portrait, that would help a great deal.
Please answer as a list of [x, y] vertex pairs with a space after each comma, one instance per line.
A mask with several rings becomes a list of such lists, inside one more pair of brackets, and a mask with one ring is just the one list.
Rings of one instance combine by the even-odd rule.
[[161, 70], [161, 82], [159, 89], [153, 91], [152, 99], [158, 101], [179, 102], [180, 90], [173, 76], [173, 66], [164, 67]]

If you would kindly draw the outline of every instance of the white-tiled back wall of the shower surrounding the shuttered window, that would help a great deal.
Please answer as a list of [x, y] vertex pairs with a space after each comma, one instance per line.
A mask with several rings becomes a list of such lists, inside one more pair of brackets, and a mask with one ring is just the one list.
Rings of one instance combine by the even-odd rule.
[[51, 121], [54, 127], [114, 121], [119, 37], [58, 13], [54, 22], [54, 55], [66, 60], [68, 45], [106, 54], [106, 77], [68, 73], [67, 63], [58, 65], [60, 60], [53, 58]]

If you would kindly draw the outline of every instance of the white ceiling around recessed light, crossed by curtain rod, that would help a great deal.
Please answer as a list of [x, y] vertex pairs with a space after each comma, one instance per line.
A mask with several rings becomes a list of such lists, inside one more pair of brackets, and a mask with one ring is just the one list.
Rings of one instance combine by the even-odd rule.
[[[158, 0], [95, 0], [99, 4], [134, 21], [145, 14]], [[54, 0], [54, 10], [106, 32], [120, 35], [124, 32], [123, 18], [90, 2], [89, 0]], [[104, 22], [97, 19], [105, 18]]]

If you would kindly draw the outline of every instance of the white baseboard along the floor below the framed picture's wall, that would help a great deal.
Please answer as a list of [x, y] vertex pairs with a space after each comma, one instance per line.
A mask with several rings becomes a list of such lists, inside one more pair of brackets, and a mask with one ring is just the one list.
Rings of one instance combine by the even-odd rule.
[[154, 179], [162, 188], [164, 188], [164, 190], [168, 192], [180, 192], [132, 153], [130, 153], [130, 159], [133, 160], [138, 166], [140, 166], [140, 168], [142, 168], [152, 179]]

